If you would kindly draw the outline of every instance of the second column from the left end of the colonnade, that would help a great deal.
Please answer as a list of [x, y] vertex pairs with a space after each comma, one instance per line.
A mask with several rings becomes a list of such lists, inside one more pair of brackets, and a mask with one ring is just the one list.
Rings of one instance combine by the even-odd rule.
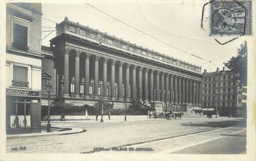
[[80, 98], [80, 71], [79, 71], [79, 56], [81, 52], [76, 51], [75, 53], [75, 98]]

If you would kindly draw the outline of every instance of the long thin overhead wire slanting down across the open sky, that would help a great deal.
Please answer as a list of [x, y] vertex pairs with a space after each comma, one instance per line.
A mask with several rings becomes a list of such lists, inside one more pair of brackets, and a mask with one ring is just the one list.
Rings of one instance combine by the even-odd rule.
[[[96, 10], [98, 10], [99, 12], [102, 12], [103, 14], [105, 14], [105, 15], [111, 17], [112, 19], [115, 19], [115, 20], [117, 20], [118, 22], [127, 25], [128, 27], [133, 28], [134, 30], [137, 30], [137, 31], [143, 33], [144, 35], [147, 35], [147, 36], [149, 36], [149, 37], [151, 37], [151, 38], [153, 38], [153, 39], [156, 39], [157, 41], [160, 41], [161, 43], [163, 43], [163, 44], [165, 44], [165, 45], [167, 45], [167, 46], [170, 46], [170, 47], [172, 47], [172, 48], [174, 48], [174, 49], [176, 49], [176, 50], [178, 50], [178, 51], [183, 52], [184, 54], [188, 54], [188, 55], [190, 55], [190, 56], [197, 57], [198, 59], [205, 60], [206, 62], [209, 62], [210, 64], [212, 64], [212, 62], [211, 62], [210, 60], [203, 59], [202, 57], [196, 56], [196, 55], [194, 55], [194, 54], [190, 54], [189, 52], [186, 52], [186, 51], [183, 51], [182, 49], [179, 49], [178, 47], [175, 47], [175, 46], [172, 46], [171, 44], [165, 43], [165, 41], [162, 41], [162, 40], [159, 39], [159, 38], [155, 38], [155, 36], [149, 35], [148, 33], [144, 32], [144, 31], [142, 31], [142, 30], [139, 30], [139, 29], [136, 28], [136, 27], [133, 27], [133, 26], [129, 25], [128, 23], [123, 22], [122, 20], [117, 19], [117, 18], [115, 18], [114, 16], [112, 16], [112, 15], [110, 15], [110, 14], [107, 14], [107, 13], [104, 12], [103, 10], [97, 9], [96, 7], [94, 7], [94, 6], [91, 5], [91, 4], [88, 4], [87, 2], [85, 2], [85, 4], [87, 4], [88, 6], [94, 8], [94, 9], [96, 9]], [[214, 65], [214, 64], [213, 64], [213, 65]]]

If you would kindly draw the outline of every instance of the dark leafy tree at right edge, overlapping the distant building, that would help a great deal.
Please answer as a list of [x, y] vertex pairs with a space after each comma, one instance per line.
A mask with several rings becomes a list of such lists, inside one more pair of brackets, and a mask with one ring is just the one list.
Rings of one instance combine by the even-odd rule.
[[234, 73], [237, 73], [236, 79], [240, 85], [247, 85], [247, 42], [241, 44], [237, 49], [237, 56], [231, 57], [228, 62], [224, 63], [225, 67]]

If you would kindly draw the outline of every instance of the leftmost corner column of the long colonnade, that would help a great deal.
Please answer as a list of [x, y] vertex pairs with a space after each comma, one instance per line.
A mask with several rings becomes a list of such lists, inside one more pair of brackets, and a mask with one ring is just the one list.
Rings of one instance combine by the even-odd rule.
[[64, 49], [64, 94], [63, 97], [69, 97], [69, 53], [70, 49]]

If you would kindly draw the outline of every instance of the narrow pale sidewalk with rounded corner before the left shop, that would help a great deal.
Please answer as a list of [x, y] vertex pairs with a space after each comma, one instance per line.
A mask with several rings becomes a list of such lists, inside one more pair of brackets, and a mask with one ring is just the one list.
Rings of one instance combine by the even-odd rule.
[[75, 133], [82, 133], [85, 130], [82, 128], [70, 128], [70, 130], [66, 131], [53, 131], [47, 133], [46, 131], [41, 131], [41, 133], [28, 133], [28, 134], [7, 134], [7, 139], [16, 139], [22, 137], [33, 137], [33, 136], [49, 136], [49, 135], [62, 135], [62, 134], [75, 134]]

